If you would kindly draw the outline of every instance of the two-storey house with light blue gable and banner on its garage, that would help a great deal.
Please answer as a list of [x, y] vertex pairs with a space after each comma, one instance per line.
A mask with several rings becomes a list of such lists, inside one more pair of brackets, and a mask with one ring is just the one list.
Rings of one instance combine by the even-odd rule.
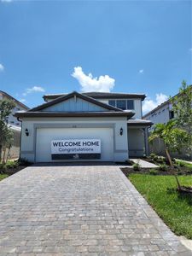
[[143, 94], [90, 92], [45, 95], [43, 105], [25, 113], [20, 157], [54, 160], [125, 161], [148, 154]]

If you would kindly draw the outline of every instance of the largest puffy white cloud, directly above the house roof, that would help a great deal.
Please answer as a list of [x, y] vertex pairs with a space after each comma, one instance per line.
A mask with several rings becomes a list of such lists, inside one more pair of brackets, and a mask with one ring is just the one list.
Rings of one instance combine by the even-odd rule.
[[110, 78], [108, 75], [94, 78], [91, 73], [86, 75], [82, 67], [74, 67], [72, 73], [73, 78], [79, 81], [82, 91], [105, 91], [110, 92], [113, 90], [115, 79]]

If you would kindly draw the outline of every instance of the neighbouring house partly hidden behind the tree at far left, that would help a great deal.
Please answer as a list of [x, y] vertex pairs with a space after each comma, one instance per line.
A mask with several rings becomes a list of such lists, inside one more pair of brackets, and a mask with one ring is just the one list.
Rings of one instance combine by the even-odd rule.
[[25, 104], [17, 101], [13, 96], [10, 96], [8, 93], [0, 90], [0, 100], [8, 99], [15, 102], [15, 108], [9, 114], [7, 123], [9, 127], [14, 131], [14, 143], [13, 147], [9, 152], [10, 158], [17, 158], [20, 154], [20, 131], [21, 131], [21, 122], [14, 116], [17, 111], [27, 111], [29, 110]]

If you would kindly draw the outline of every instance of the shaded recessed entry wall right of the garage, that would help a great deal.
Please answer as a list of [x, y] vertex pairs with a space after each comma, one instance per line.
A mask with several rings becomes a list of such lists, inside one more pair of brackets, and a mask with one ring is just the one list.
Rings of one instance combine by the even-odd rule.
[[143, 156], [145, 153], [143, 129], [128, 127], [127, 133], [129, 137], [128, 148], [130, 157]]

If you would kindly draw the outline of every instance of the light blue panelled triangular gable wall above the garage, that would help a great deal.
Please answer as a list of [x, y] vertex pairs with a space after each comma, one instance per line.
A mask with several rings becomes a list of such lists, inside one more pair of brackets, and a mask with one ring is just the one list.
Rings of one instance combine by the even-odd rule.
[[42, 111], [55, 111], [55, 112], [94, 112], [94, 111], [106, 111], [106, 108], [97, 106], [91, 102], [84, 101], [77, 97], [72, 97], [67, 101], [57, 103], [48, 108], [44, 108]]

